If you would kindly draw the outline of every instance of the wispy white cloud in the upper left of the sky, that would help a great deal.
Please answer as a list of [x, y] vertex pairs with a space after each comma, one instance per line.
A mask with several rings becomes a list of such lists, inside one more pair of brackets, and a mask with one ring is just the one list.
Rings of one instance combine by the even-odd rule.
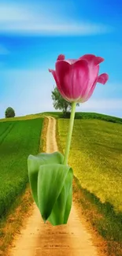
[[[59, 13], [58, 13], [59, 14]], [[76, 22], [64, 13], [46, 6], [1, 5], [0, 32], [24, 35], [96, 35], [110, 32], [111, 28], [92, 22]]]

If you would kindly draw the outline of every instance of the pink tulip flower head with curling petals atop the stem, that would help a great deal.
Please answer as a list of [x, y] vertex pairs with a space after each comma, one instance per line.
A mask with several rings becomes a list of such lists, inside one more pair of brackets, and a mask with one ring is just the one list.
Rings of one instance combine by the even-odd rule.
[[49, 69], [57, 83], [57, 89], [68, 102], [86, 102], [93, 94], [96, 83], [105, 84], [109, 79], [106, 73], [98, 76], [101, 57], [86, 54], [79, 59], [65, 60], [59, 55], [56, 70]]

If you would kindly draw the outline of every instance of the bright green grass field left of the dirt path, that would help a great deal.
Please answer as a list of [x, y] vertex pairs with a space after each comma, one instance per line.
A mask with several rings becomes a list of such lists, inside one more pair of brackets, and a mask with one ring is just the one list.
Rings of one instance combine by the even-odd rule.
[[0, 216], [28, 182], [27, 158], [37, 154], [43, 118], [0, 122]]

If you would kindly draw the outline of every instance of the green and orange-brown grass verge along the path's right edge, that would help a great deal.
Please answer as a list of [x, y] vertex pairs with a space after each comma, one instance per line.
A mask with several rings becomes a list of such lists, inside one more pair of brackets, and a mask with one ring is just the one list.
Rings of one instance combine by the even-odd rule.
[[[94, 244], [102, 254], [122, 255], [122, 214], [116, 214], [113, 206], [102, 203], [94, 194], [81, 187], [74, 176], [73, 198], [79, 205], [79, 213], [94, 236]], [[98, 237], [99, 236], [99, 237]], [[101, 239], [99, 239], [101, 237]]]

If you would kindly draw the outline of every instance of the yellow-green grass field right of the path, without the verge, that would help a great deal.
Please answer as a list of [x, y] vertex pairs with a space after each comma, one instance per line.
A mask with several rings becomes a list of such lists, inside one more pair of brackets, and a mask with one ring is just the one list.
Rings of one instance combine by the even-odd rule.
[[[58, 120], [65, 149], [68, 120]], [[75, 120], [69, 156], [83, 188], [122, 212], [122, 126], [98, 120]]]

